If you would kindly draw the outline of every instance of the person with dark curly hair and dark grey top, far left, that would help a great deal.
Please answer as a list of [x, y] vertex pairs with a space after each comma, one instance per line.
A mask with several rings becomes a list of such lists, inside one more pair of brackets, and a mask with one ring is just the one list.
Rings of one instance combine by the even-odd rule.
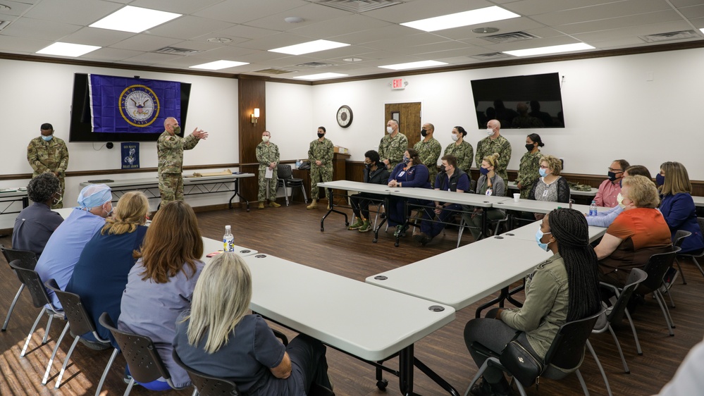
[[61, 215], [51, 211], [51, 205], [61, 200], [61, 184], [54, 173], [42, 173], [30, 180], [27, 196], [32, 204], [20, 211], [12, 233], [12, 248], [28, 250], [39, 257], [58, 225]]

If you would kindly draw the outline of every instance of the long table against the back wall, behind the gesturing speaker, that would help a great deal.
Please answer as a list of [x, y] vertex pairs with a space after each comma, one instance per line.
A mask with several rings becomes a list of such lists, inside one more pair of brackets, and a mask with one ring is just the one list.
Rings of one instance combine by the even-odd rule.
[[[241, 178], [252, 178], [254, 173], [233, 173], [232, 175], [216, 175], [216, 176], [184, 176], [183, 177], [183, 194], [184, 195], [199, 195], [199, 194], [215, 194], [217, 192], [233, 192], [230, 201], [228, 202], [228, 207], [232, 209], [233, 199], [235, 197], [240, 197], [240, 200], [245, 202], [247, 205], [247, 211], [249, 211], [249, 201], [242, 197], [240, 194], [240, 179]], [[129, 191], [141, 191], [147, 195], [149, 199], [161, 198], [159, 193], [159, 179], [158, 178], [141, 178], [141, 179], [128, 179], [128, 180], [115, 180], [115, 181], [104, 181], [104, 180], [88, 180], [86, 182], [81, 182], [82, 187], [87, 185], [92, 185], [96, 183], [101, 183], [110, 187], [113, 193], [113, 202], [116, 202], [120, 197]], [[229, 183], [234, 183], [233, 187], [230, 188]]]

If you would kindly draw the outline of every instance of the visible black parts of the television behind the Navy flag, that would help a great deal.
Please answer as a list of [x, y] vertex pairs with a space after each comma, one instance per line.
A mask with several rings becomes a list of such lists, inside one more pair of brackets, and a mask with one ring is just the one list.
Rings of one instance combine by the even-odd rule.
[[[186, 129], [186, 114], [188, 113], [188, 99], [191, 85], [180, 83], [181, 108], [178, 123], [183, 131]], [[129, 132], [93, 132], [91, 124], [91, 109], [88, 87], [88, 75], [75, 73], [73, 75], [73, 98], [71, 99], [71, 118], [68, 132], [69, 142], [156, 142], [163, 132], [154, 133], [129, 133]]]

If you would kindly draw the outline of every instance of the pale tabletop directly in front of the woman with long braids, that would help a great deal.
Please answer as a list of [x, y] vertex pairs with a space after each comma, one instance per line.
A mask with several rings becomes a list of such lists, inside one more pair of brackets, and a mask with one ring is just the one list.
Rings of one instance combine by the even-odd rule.
[[481, 309], [509, 297], [508, 287], [550, 256], [552, 252], [540, 249], [535, 237], [495, 236], [369, 276], [365, 281], [458, 311], [500, 290], [497, 299], [477, 309], [478, 317]]

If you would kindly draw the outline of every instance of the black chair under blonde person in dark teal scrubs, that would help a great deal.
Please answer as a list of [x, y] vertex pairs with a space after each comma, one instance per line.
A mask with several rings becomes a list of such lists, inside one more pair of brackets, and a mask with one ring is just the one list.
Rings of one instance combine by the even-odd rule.
[[[54, 385], [54, 389], [58, 389], [58, 387], [61, 386], [61, 378], [63, 378], [63, 373], [66, 371], [68, 361], [71, 357], [71, 354], [73, 354], [73, 349], [76, 347], [76, 344], [78, 344], [78, 340], [80, 340], [81, 334], [92, 333], [95, 339], [98, 340], [98, 342], [105, 344], [106, 347], [111, 347], [111, 344], [110, 340], [103, 340], [100, 335], [98, 335], [98, 333], [96, 332], [95, 323], [93, 323], [93, 319], [85, 310], [85, 307], [83, 306], [79, 295], [71, 292], [64, 292], [58, 287], [58, 284], [56, 284], [56, 280], [54, 279], [47, 280], [44, 285], [47, 286], [47, 289], [52, 290], [54, 291], [54, 293], [56, 293], [58, 301], [60, 301], [61, 305], [63, 306], [63, 313], [66, 315], [66, 318], [68, 318], [68, 323], [66, 323], [66, 327], [63, 328], [61, 337], [59, 337], [58, 341], [56, 341], [54, 352], [51, 353], [51, 359], [49, 359], [49, 364], [47, 364], [47, 371], [44, 372], [44, 378], [42, 378], [42, 385], [47, 385], [47, 381], [49, 380], [49, 371], [51, 371], [51, 364], [54, 362], [54, 357], [56, 357], [58, 345], [61, 345], [61, 341], [66, 335], [69, 327], [72, 333], [74, 334], [73, 344], [71, 344], [70, 349], [68, 349], [66, 359], [63, 361], [61, 371], [58, 373], [58, 377], [56, 378], [56, 385]], [[96, 395], [100, 395], [100, 390], [103, 387], [103, 383], [105, 382], [106, 374], [107, 371], [105, 371], [103, 373], [103, 376], [100, 378], [100, 382], [98, 383], [98, 390], [95, 392]]]

